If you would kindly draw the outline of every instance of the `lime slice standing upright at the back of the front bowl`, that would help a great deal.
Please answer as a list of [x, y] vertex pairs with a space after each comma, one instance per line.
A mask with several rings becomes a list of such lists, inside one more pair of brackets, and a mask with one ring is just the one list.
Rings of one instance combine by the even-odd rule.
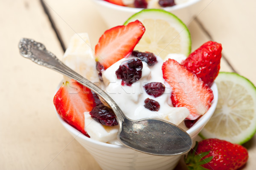
[[170, 53], [188, 56], [191, 52], [191, 38], [186, 25], [174, 14], [163, 9], [143, 9], [132, 15], [124, 25], [140, 20], [145, 33], [134, 50], [152, 52], [165, 58]]

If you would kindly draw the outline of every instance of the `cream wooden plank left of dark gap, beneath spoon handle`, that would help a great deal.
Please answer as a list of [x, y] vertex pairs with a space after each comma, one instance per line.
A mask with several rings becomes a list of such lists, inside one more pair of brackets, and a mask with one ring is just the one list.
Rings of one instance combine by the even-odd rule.
[[0, 3], [0, 169], [99, 169], [55, 115], [62, 76], [19, 54], [20, 38], [28, 37], [63, 55], [39, 0]]

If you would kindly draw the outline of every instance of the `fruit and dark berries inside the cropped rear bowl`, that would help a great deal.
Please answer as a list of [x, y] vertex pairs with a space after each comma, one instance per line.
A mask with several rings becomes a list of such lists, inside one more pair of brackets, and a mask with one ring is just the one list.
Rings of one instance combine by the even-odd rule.
[[179, 5], [189, 0], [105, 0], [119, 6], [128, 6], [133, 8], [163, 8]]

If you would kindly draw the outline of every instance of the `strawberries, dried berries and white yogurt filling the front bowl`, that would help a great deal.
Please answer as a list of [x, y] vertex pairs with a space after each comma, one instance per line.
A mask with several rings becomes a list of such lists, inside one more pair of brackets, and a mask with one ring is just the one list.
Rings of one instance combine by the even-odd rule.
[[[185, 120], [192, 126], [211, 106], [221, 44], [209, 41], [188, 57], [169, 54], [162, 59], [134, 50], [144, 32], [139, 20], [108, 29], [94, 54], [87, 34], [74, 35], [63, 61], [107, 92], [128, 118], [160, 118], [176, 125]], [[112, 109], [94, 92], [64, 79], [54, 97], [61, 118], [87, 137], [119, 144]]]

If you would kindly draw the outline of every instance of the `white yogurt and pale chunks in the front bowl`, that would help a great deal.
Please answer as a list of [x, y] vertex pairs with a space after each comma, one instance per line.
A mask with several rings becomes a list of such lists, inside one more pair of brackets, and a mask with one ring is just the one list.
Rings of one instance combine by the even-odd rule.
[[[134, 58], [129, 56], [117, 61], [108, 69], [102, 72], [103, 82], [99, 81], [99, 76], [96, 71], [96, 62], [93, 55], [93, 50], [90, 48], [90, 40], [86, 33], [74, 35], [66, 50], [63, 62], [76, 70], [79, 74], [100, 86], [113, 100], [119, 105], [124, 114], [133, 120], [142, 118], [159, 118], [169, 121], [173, 124], [182, 126], [183, 120], [189, 115], [189, 110], [186, 107], [173, 107], [170, 98], [172, 89], [165, 83], [162, 73], [163, 61], [172, 58], [178, 62], [186, 59], [186, 56], [180, 54], [169, 54], [165, 60], [157, 57], [157, 63], [153, 66], [148, 66], [147, 63], [142, 61], [143, 69], [141, 78], [131, 86], [121, 85], [121, 79], [118, 79], [115, 72], [119, 65], [125, 61]], [[69, 81], [69, 78], [64, 77]], [[165, 92], [155, 98], [148, 95], [143, 87], [145, 84], [151, 82], [160, 82], [165, 86]], [[144, 101], [150, 98], [160, 104], [158, 111], [151, 111], [144, 107]], [[110, 143], [120, 144], [116, 138], [119, 126], [105, 126], [91, 118], [89, 112], [84, 112], [84, 127], [85, 131], [90, 135], [90, 138]], [[184, 127], [184, 126], [183, 126]]]

